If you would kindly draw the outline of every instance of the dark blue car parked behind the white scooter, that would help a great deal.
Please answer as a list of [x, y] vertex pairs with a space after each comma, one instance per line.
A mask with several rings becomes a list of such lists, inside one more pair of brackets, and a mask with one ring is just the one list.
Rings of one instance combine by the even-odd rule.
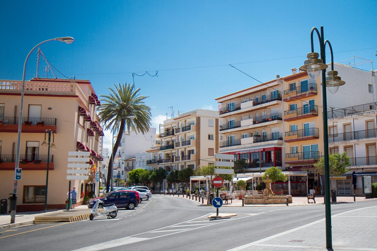
[[[100, 200], [104, 200], [106, 198], [106, 204], [115, 203], [117, 208], [127, 208], [127, 209], [134, 209], [138, 204], [136, 200], [136, 195], [133, 192], [109, 192], [105, 193], [104, 195], [98, 197]], [[88, 207], [92, 208], [95, 204], [94, 200], [89, 201]]]

